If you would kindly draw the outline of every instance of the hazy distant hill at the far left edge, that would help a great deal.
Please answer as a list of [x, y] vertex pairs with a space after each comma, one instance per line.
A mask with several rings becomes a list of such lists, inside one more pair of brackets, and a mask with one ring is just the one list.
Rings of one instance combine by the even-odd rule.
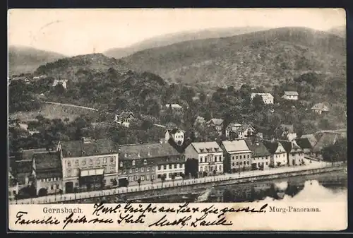
[[10, 76], [20, 73], [33, 73], [38, 66], [64, 57], [63, 54], [32, 47], [9, 46], [8, 73]]

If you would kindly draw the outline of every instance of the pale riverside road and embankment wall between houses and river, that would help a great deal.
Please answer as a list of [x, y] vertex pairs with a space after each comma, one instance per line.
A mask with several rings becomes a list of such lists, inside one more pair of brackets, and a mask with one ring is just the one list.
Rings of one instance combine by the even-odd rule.
[[280, 167], [268, 170], [256, 170], [249, 172], [241, 172], [237, 174], [225, 174], [214, 177], [204, 177], [199, 179], [186, 179], [184, 181], [175, 182], [155, 182], [152, 184], [144, 184], [141, 186], [129, 186], [128, 188], [120, 187], [103, 191], [88, 191], [78, 194], [63, 194], [42, 196], [37, 198], [28, 198], [18, 201], [10, 201], [10, 203], [30, 204], [30, 203], [65, 203], [68, 201], [83, 200], [89, 198], [106, 197], [106, 196], [124, 196], [125, 194], [134, 194], [138, 198], [148, 196], [160, 196], [160, 194], [183, 193], [193, 191], [195, 189], [207, 188], [212, 186], [222, 186], [227, 184], [238, 184], [246, 182], [258, 182], [265, 179], [278, 179], [285, 177], [294, 177], [306, 174], [319, 174], [323, 172], [343, 170], [346, 165], [331, 165], [324, 162], [313, 162], [309, 165], [297, 167]]

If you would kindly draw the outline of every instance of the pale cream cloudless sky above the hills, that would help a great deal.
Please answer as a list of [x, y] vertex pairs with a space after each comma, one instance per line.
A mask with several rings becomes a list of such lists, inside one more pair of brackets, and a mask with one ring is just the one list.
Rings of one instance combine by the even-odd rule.
[[73, 56], [208, 28], [345, 25], [342, 8], [11, 9], [8, 44]]

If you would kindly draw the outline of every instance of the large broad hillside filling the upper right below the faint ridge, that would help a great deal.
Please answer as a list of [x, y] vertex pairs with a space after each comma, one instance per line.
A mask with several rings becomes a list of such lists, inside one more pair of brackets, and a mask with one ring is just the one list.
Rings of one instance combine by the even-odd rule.
[[309, 28], [276, 28], [192, 40], [122, 58], [129, 68], [178, 83], [217, 88], [273, 85], [307, 71], [345, 75], [345, 40]]

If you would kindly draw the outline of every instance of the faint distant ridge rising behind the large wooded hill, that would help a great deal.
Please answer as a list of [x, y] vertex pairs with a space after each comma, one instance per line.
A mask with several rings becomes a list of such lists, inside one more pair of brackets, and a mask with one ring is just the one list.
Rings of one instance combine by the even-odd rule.
[[142, 42], [132, 44], [130, 47], [108, 49], [103, 54], [109, 57], [114, 57], [116, 59], [119, 59], [121, 57], [131, 55], [135, 52], [138, 52], [144, 49], [164, 47], [170, 44], [175, 44], [175, 43], [189, 41], [189, 40], [228, 37], [232, 35], [244, 34], [246, 32], [255, 32], [258, 30], [264, 30], [264, 28], [261, 28], [261, 27], [214, 28], [214, 29], [211, 28], [206, 30], [200, 30], [197, 32], [177, 32], [177, 33], [152, 37], [148, 40], [144, 40]]

